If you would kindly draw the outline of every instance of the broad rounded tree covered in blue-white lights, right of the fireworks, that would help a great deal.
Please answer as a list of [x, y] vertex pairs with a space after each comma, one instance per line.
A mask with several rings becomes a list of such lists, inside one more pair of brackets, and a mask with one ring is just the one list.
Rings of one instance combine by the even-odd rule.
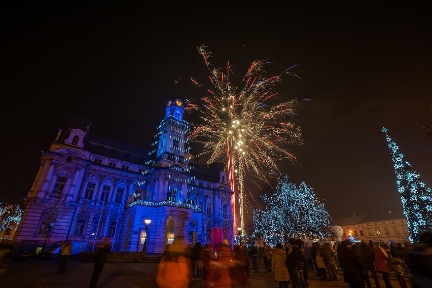
[[285, 175], [280, 178], [276, 192], [260, 195], [262, 209], [254, 209], [255, 234], [270, 245], [294, 237], [305, 240], [331, 235], [331, 216], [304, 181], [291, 183]]

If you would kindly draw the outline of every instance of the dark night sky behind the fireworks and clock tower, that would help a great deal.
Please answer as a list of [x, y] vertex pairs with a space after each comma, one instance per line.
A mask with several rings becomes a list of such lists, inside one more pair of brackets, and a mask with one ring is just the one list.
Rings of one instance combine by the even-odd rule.
[[290, 147], [299, 163], [281, 170], [310, 185], [334, 219], [402, 212], [383, 126], [432, 187], [425, 7], [112, 3], [2, 9], [0, 202], [23, 207], [41, 151], [71, 116], [90, 120], [92, 133], [150, 149], [168, 99], [207, 95], [190, 82], [209, 85], [201, 44], [215, 66], [230, 62], [232, 82], [254, 60], [275, 61], [269, 76], [299, 64], [300, 78], [284, 77], [277, 90], [281, 99], [311, 99], [297, 106], [305, 143]]

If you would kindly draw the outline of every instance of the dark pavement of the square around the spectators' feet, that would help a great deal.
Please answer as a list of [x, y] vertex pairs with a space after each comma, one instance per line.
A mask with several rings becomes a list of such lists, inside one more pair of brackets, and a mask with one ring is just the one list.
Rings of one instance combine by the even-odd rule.
[[[10, 266], [0, 274], [1, 287], [13, 288], [74, 288], [88, 287], [94, 263], [78, 262], [71, 259], [67, 263], [64, 274], [56, 274], [58, 263], [53, 260], [14, 260]], [[97, 288], [157, 288], [155, 282], [156, 263], [105, 263], [97, 281]], [[259, 262], [259, 270], [250, 270], [250, 283], [247, 288], [278, 288], [278, 283], [265, 270], [264, 262]], [[310, 271], [307, 278], [309, 288], [349, 287], [343, 281], [342, 270], [338, 269], [339, 281], [320, 281], [316, 271]], [[393, 288], [400, 287], [395, 277], [391, 277]], [[408, 288], [412, 288], [407, 280]], [[374, 283], [371, 278], [371, 283]], [[202, 280], [192, 280], [191, 288], [204, 287]], [[380, 279], [381, 287], [385, 287]], [[291, 285], [290, 285], [291, 287]], [[374, 284], [373, 284], [374, 287]]]

